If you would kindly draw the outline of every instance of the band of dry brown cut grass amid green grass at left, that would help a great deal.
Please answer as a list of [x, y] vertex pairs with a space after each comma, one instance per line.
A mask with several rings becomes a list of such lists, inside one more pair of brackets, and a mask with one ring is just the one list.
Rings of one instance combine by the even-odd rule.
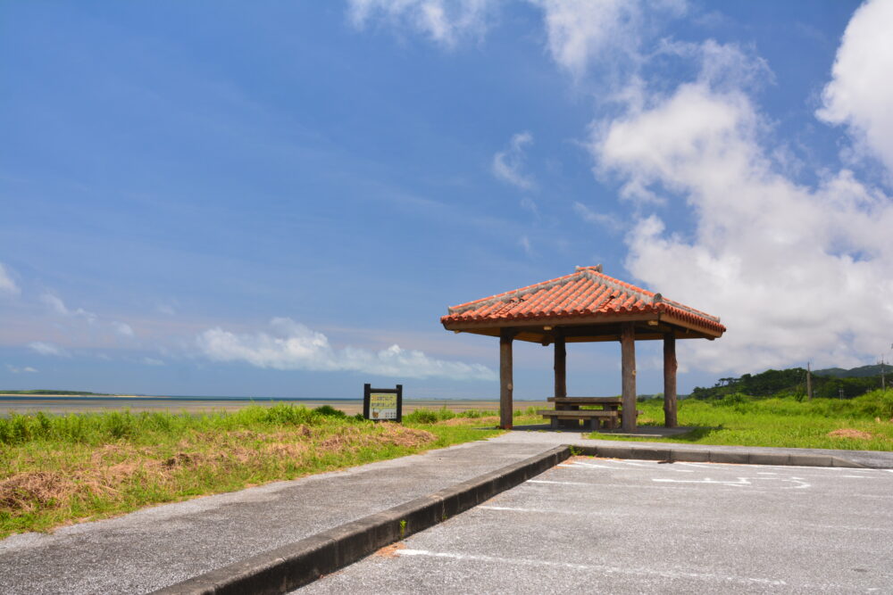
[[167, 446], [116, 442], [56, 457], [26, 455], [17, 459], [14, 467], [52, 470], [13, 471], [0, 480], [0, 511], [21, 514], [38, 508], [61, 508], [73, 500], [114, 498], [134, 483], [173, 486], [199, 470], [223, 474], [237, 468], [295, 468], [313, 457], [388, 445], [417, 448], [437, 439], [430, 432], [396, 424], [374, 428], [297, 426], [291, 431], [270, 433], [196, 432]]

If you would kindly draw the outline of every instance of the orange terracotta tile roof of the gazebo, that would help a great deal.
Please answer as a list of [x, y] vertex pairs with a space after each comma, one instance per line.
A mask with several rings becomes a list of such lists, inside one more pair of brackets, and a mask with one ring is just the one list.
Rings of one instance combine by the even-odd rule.
[[452, 306], [440, 318], [444, 326], [462, 322], [496, 322], [505, 325], [511, 320], [555, 320], [570, 318], [609, 318], [628, 314], [666, 313], [722, 335], [725, 326], [720, 319], [679, 302], [667, 300], [602, 273], [601, 265], [577, 267], [571, 275], [543, 281], [510, 292]]

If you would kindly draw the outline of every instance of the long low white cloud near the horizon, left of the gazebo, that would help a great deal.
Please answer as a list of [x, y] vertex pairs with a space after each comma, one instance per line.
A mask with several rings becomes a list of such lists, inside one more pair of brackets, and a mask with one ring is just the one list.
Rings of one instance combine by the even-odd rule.
[[432, 359], [421, 351], [391, 345], [382, 351], [335, 349], [328, 337], [290, 318], [273, 318], [271, 332], [240, 334], [220, 327], [196, 338], [199, 351], [214, 361], [245, 361], [258, 368], [310, 371], [353, 371], [407, 378], [448, 377], [455, 380], [494, 380], [480, 364]]

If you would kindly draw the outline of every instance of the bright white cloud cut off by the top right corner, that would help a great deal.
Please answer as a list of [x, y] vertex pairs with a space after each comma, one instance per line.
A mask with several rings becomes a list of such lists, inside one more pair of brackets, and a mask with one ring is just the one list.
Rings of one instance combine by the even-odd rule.
[[893, 2], [863, 4], [847, 25], [823, 93], [822, 120], [847, 124], [893, 172]]

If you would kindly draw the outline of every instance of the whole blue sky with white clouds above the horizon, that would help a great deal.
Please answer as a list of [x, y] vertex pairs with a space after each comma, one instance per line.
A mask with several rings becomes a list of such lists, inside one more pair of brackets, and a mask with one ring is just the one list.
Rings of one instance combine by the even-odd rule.
[[890, 4], [4, 3], [0, 387], [494, 398], [439, 316], [599, 262], [729, 327], [682, 391], [889, 359]]

